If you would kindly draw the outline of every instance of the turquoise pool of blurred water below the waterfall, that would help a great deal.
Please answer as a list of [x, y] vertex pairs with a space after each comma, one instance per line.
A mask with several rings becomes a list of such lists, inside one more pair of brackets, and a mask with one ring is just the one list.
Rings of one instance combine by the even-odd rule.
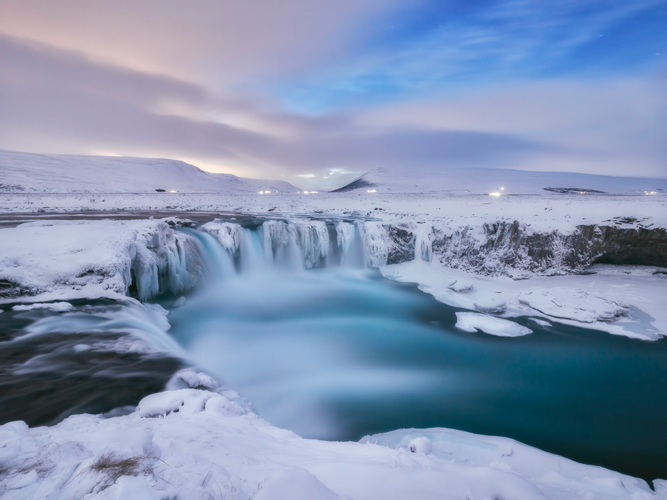
[[532, 335], [497, 338], [456, 330], [455, 312], [368, 269], [260, 266], [170, 322], [193, 362], [304, 437], [442, 426], [667, 477], [667, 342], [528, 318]]

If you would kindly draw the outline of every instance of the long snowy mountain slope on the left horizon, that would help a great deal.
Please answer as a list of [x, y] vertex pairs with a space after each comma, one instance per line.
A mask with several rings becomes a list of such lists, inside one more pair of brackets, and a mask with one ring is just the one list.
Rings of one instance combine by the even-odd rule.
[[0, 192], [297, 192], [285, 181], [212, 174], [157, 158], [21, 153], [0, 149]]

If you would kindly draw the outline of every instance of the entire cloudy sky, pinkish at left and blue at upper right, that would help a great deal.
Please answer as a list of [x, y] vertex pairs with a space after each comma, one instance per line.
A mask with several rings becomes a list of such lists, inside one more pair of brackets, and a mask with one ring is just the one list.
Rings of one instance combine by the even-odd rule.
[[0, 149], [667, 177], [667, 0], [0, 0]]

